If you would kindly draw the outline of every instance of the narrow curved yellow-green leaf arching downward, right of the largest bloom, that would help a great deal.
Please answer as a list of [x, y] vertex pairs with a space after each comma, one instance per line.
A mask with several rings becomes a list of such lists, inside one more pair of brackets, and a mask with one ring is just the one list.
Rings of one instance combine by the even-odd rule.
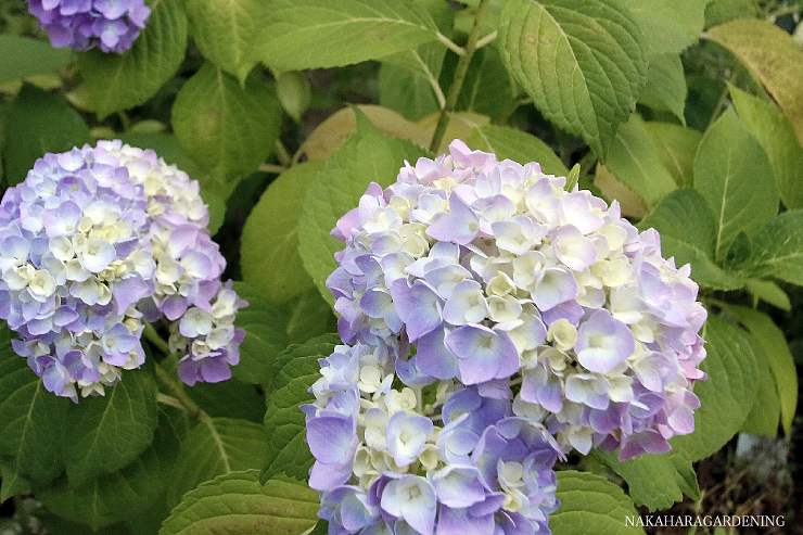
[[[774, 385], [776, 391], [775, 397], [780, 402], [779, 409], [783, 431], [789, 434], [798, 408], [798, 371], [783, 331], [769, 316], [754, 308], [727, 305], [725, 309], [736, 316], [739, 322], [750, 332], [751, 337], [755, 341], [756, 359], [767, 364], [772, 373], [770, 384]], [[760, 405], [763, 399], [763, 397], [759, 397], [756, 405]], [[776, 425], [770, 431], [770, 436], [777, 434], [777, 415], [775, 418]]]

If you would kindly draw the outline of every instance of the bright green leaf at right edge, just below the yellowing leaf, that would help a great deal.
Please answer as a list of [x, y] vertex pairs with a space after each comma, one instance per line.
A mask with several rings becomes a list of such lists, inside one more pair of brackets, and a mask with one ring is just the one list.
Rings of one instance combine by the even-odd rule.
[[769, 157], [780, 200], [787, 208], [803, 207], [803, 147], [789, 119], [772, 102], [730, 87], [742, 124]]

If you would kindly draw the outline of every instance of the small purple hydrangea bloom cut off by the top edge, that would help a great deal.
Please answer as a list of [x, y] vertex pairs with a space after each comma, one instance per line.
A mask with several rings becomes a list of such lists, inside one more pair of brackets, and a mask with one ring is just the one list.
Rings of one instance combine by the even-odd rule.
[[131, 48], [151, 15], [144, 0], [28, 0], [28, 11], [53, 47], [118, 54]]

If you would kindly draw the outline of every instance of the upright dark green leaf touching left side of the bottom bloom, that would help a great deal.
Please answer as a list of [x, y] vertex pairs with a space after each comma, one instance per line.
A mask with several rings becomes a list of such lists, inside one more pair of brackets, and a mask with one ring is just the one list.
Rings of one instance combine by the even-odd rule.
[[329, 334], [290, 346], [279, 356], [279, 362], [284, 365], [277, 374], [265, 413], [270, 442], [262, 481], [279, 473], [307, 480], [315, 459], [306, 444], [305, 415], [298, 407], [315, 402], [308, 390], [321, 377], [318, 359], [331, 355], [339, 343], [340, 339]]

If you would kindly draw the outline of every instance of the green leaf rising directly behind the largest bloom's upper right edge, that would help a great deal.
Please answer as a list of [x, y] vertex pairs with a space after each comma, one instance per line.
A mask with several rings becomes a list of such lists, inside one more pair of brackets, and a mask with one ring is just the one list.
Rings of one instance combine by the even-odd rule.
[[663, 256], [675, 265], [691, 264], [691, 278], [700, 285], [736, 290], [743, 285], [736, 275], [717, 266], [714, 258], [716, 221], [705, 199], [691, 189], [675, 190], [638, 224], [661, 234]]

